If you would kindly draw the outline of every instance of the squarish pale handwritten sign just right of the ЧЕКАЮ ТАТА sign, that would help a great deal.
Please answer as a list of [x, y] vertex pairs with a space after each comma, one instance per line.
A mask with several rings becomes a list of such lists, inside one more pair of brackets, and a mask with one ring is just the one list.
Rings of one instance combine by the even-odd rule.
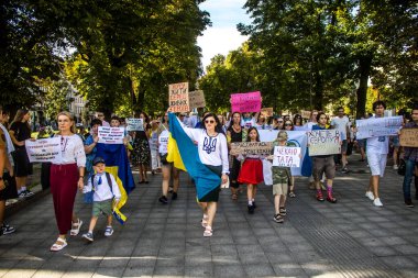
[[310, 131], [308, 146], [309, 156], [340, 154], [340, 132], [338, 130]]

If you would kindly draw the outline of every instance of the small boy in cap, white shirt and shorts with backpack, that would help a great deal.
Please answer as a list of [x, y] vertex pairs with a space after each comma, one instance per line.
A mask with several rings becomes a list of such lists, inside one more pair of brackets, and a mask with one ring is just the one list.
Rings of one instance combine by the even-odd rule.
[[105, 236], [111, 236], [113, 234], [112, 208], [117, 205], [121, 198], [121, 192], [114, 177], [105, 170], [105, 159], [96, 157], [92, 165], [96, 174], [89, 177], [88, 184], [82, 190], [84, 193], [94, 191], [90, 225], [88, 233], [82, 235], [82, 238], [89, 242], [94, 241], [92, 232], [100, 213], [103, 213], [108, 219]]

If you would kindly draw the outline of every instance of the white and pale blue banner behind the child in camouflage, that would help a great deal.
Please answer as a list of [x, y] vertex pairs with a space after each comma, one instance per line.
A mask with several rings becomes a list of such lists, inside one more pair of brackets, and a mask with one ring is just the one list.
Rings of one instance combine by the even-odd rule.
[[[287, 146], [289, 147], [300, 147], [300, 166], [290, 167], [293, 176], [301, 176], [301, 164], [304, 163], [304, 157], [306, 154], [306, 146], [308, 143], [308, 136], [305, 131], [286, 131], [288, 140]], [[272, 142], [276, 140], [278, 131], [271, 130], [258, 130], [260, 141], [261, 142]]]

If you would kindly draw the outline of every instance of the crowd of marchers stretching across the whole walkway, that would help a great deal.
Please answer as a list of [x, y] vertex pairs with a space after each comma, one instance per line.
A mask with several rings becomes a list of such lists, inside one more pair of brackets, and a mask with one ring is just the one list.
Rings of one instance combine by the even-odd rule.
[[[373, 103], [374, 114], [365, 119], [382, 118], [386, 105], [383, 101]], [[6, 200], [10, 198], [28, 198], [33, 194], [28, 189], [28, 177], [32, 175], [32, 164], [25, 149], [25, 142], [31, 138], [29, 125], [30, 111], [21, 109], [9, 124], [9, 114], [0, 108], [0, 223], [1, 234], [10, 234], [14, 227], [4, 222]], [[349, 173], [348, 155], [353, 146], [361, 154], [361, 162], [367, 163], [371, 169], [370, 185], [365, 196], [376, 207], [383, 207], [378, 187], [384, 177], [386, 162], [393, 149], [394, 169], [398, 169], [404, 160], [405, 178], [403, 182], [404, 201], [414, 207], [410, 196], [410, 184], [415, 176], [416, 199], [418, 199], [417, 147], [400, 147], [398, 136], [376, 136], [356, 140], [356, 127], [352, 120], [338, 108], [332, 119], [322, 111], [311, 111], [309, 119], [300, 114], [266, 116], [263, 113], [229, 113], [228, 116], [205, 112], [164, 113], [161, 118], [151, 119], [145, 112], [135, 114], [143, 120], [141, 131], [125, 132], [123, 140], [124, 156], [132, 167], [138, 167], [139, 184], [148, 184], [148, 173], [162, 173], [162, 193], [158, 201], [162, 205], [179, 198], [179, 176], [183, 170], [193, 178], [197, 188], [197, 203], [202, 210], [201, 225], [204, 236], [212, 236], [217, 212], [217, 203], [221, 185], [229, 184], [231, 200], [237, 201], [240, 192], [246, 188], [248, 212], [256, 211], [257, 187], [264, 181], [263, 160], [272, 160], [270, 154], [234, 154], [231, 143], [260, 142], [261, 130], [277, 130], [274, 146], [286, 146], [290, 131], [338, 130], [341, 141], [341, 153], [338, 155], [317, 155], [309, 157], [311, 176], [309, 187], [315, 190], [316, 200], [337, 203], [333, 194], [333, 180], [337, 168], [342, 174]], [[413, 107], [410, 114], [404, 115], [404, 127], [418, 126], [418, 107]], [[108, 162], [102, 157], [103, 149], [99, 144], [99, 126], [124, 127], [125, 119], [111, 116], [110, 122], [105, 114], [96, 113], [88, 132], [76, 130], [74, 118], [68, 112], [61, 112], [57, 118], [57, 132], [44, 133], [44, 137], [61, 137], [63, 159], [50, 167], [48, 182], [54, 201], [58, 237], [51, 251], [61, 251], [67, 246], [67, 234], [72, 236], [80, 232], [82, 221], [74, 213], [77, 189], [85, 194], [92, 193], [92, 216], [88, 232], [82, 235], [94, 241], [94, 229], [100, 213], [107, 215], [106, 236], [113, 233], [112, 210], [118, 204], [121, 192], [117, 177], [109, 175]], [[177, 142], [176, 142], [177, 141]], [[185, 143], [193, 145], [186, 145]], [[174, 149], [174, 146], [178, 149]], [[308, 146], [309, 149], [309, 146]], [[184, 168], [178, 167], [173, 156], [179, 152]], [[195, 153], [196, 155], [194, 155]], [[177, 167], [176, 167], [177, 166]], [[198, 166], [198, 168], [196, 168]], [[131, 170], [131, 169], [129, 169]], [[284, 223], [286, 199], [296, 198], [295, 176], [289, 167], [272, 166], [272, 193], [274, 194], [273, 220]], [[132, 175], [132, 174], [131, 174]], [[186, 174], [183, 174], [186, 175]], [[173, 185], [169, 185], [173, 182]], [[243, 186], [245, 185], [245, 187]], [[323, 191], [326, 197], [323, 197]], [[129, 190], [127, 190], [129, 193]], [[123, 192], [122, 192], [123, 194]], [[169, 198], [170, 194], [170, 198]], [[170, 200], [169, 200], [170, 199]]]

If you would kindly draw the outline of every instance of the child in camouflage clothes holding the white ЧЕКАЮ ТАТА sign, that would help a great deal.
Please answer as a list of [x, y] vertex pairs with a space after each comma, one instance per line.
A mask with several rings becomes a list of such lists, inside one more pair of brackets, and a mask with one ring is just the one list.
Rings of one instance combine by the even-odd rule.
[[[277, 138], [273, 142], [273, 153], [275, 146], [286, 146], [286, 143], [287, 133], [285, 131], [279, 131]], [[272, 166], [272, 178], [275, 210], [273, 220], [277, 223], [283, 223], [284, 216], [286, 215], [285, 203], [287, 189], [292, 179], [290, 167]]]

